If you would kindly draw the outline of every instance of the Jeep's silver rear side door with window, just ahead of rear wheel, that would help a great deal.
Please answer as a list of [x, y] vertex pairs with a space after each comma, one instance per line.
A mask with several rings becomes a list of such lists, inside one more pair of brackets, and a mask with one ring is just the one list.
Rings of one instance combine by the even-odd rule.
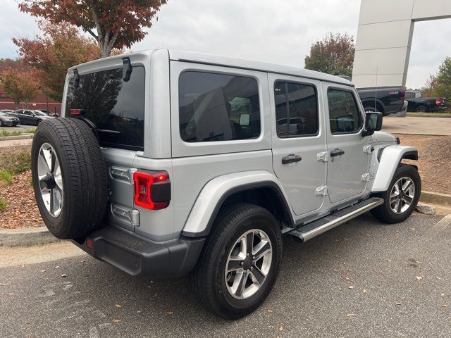
[[[319, 209], [317, 189], [326, 184], [321, 82], [269, 74], [273, 125], [273, 169], [296, 215]], [[319, 189], [320, 188], [320, 189]]]

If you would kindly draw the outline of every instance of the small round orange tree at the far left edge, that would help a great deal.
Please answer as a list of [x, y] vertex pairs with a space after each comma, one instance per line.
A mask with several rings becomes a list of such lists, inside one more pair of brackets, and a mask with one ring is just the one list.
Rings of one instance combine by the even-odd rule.
[[8, 68], [1, 73], [0, 77], [4, 91], [16, 104], [16, 108], [21, 103], [26, 106], [39, 94], [39, 85], [32, 70]]

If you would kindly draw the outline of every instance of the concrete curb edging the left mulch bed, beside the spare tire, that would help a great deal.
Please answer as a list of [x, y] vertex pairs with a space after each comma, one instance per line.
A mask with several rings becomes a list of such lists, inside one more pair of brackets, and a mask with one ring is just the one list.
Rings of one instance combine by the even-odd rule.
[[0, 246], [33, 246], [58, 241], [47, 227], [0, 230]]

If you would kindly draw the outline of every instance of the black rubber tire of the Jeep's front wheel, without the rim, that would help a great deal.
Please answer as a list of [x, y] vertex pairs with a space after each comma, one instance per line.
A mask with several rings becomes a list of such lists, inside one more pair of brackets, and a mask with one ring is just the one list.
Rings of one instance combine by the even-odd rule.
[[[402, 213], [395, 213], [390, 206], [390, 194], [395, 185], [395, 183], [400, 180], [402, 177], [409, 177], [412, 182], [414, 182], [415, 193], [414, 198], [412, 200], [412, 204], [410, 204], [409, 208]], [[393, 175], [393, 180], [390, 182], [390, 186], [386, 192], [381, 194], [381, 197], [384, 199], [384, 203], [377, 208], [371, 210], [371, 213], [374, 217], [378, 218], [384, 223], [395, 224], [404, 222], [407, 218], [412, 215], [416, 208], [416, 204], [418, 204], [419, 198], [421, 194], [421, 177], [412, 165], [400, 164], [397, 168], [395, 175]]]

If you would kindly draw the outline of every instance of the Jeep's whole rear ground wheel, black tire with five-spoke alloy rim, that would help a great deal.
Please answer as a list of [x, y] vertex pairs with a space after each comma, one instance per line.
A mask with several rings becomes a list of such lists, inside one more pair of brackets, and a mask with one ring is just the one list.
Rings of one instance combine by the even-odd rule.
[[282, 235], [266, 209], [240, 204], [223, 211], [191, 274], [200, 303], [221, 318], [241, 318], [264, 302], [280, 269]]

